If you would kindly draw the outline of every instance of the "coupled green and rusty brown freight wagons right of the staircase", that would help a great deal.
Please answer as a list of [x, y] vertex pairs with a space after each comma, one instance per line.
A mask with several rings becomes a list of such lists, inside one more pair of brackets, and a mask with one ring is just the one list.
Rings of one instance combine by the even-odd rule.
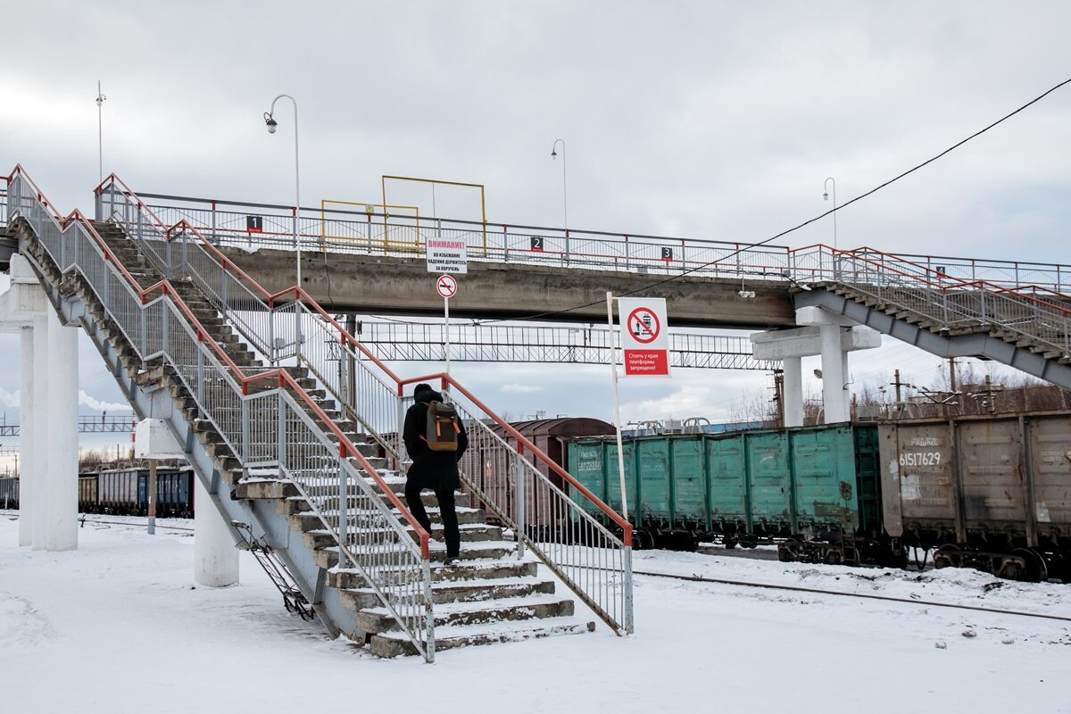
[[[620, 511], [616, 440], [565, 453]], [[638, 437], [623, 455], [639, 547], [768, 543], [784, 561], [900, 566], [917, 548], [937, 567], [1071, 581], [1069, 412]]]

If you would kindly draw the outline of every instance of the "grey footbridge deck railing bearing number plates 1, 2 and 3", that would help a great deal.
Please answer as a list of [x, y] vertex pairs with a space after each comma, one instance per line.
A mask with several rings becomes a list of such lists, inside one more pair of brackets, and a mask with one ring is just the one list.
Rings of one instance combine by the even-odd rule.
[[[142, 194], [153, 210], [172, 222], [182, 218], [207, 231], [220, 245], [253, 249], [293, 249], [292, 206], [226, 201], [164, 194]], [[378, 207], [372, 207], [378, 208]], [[399, 216], [367, 211], [306, 208], [298, 227], [303, 250], [330, 250], [413, 257], [423, 255], [428, 236], [461, 238], [473, 261], [517, 262], [628, 270], [652, 275], [692, 271], [707, 276], [763, 276], [796, 282], [835, 279], [834, 250], [812, 245], [788, 248], [746, 241], [713, 241], [666, 236], [590, 231], [438, 217]], [[257, 218], [251, 228], [250, 217]], [[871, 248], [857, 248], [872, 252]], [[985, 280], [1001, 288], [1036, 286], [1055, 294], [1071, 294], [1071, 265], [1032, 261], [984, 260], [951, 256], [883, 254], [886, 260], [909, 263], [934, 277], [953, 283]]]

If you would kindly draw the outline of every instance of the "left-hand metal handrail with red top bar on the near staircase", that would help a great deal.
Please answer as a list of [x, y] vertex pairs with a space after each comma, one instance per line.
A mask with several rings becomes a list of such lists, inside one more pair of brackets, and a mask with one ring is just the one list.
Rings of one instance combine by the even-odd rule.
[[[291, 464], [287, 460], [285, 439], [280, 440], [277, 437], [268, 438], [262, 442], [252, 439], [252, 419], [247, 405], [254, 399], [266, 398], [263, 397], [266, 393], [259, 393], [251, 398], [248, 394], [250, 385], [261, 379], [275, 379], [277, 380], [277, 389], [267, 392], [269, 397], [274, 396], [278, 399], [281, 410], [284, 405], [289, 405], [291, 411], [300, 411], [298, 419], [305, 422], [312, 435], [320, 440], [321, 445], [328, 445], [331, 450], [337, 450], [338, 488], [336, 492], [340, 495], [338, 508], [341, 512], [343, 514], [346, 513], [346, 504], [350, 498], [349, 483], [355, 483], [360, 488], [363, 488], [366, 496], [371, 497], [375, 501], [375, 504], [378, 504], [376, 507], [379, 507], [380, 511], [386, 508], [380, 497], [371, 490], [371, 486], [364, 482], [363, 477], [347, 477], [358, 475], [355, 468], [347, 460], [348, 458], [353, 458], [360, 464], [368, 478], [382, 489], [383, 493], [398, 508], [399, 513], [403, 516], [408, 516], [407, 520], [409, 520], [410, 526], [413, 527], [414, 532], [420, 536], [420, 552], [417, 552], [417, 547], [412, 540], [402, 529], [397, 518], [389, 513], [389, 510], [387, 510], [388, 513], [383, 517], [383, 522], [395, 531], [402, 530], [403, 537], [395, 538], [395, 546], [401, 547], [402, 551], [408, 550], [411, 552], [413, 556], [412, 562], [418, 563], [417, 568], [420, 572], [418, 580], [421, 582], [421, 588], [417, 596], [409, 598], [411, 601], [410, 605], [417, 606], [413, 608], [417, 610], [416, 614], [409, 616], [401, 614], [397, 611], [397, 606], [392, 604], [392, 601], [393, 603], [405, 602], [404, 598], [402, 601], [398, 599], [397, 590], [399, 588], [411, 588], [412, 578], [406, 578], [404, 579], [405, 582], [399, 584], [396, 575], [388, 580], [376, 577], [375, 574], [369, 572], [369, 565], [375, 565], [373, 562], [374, 557], [366, 557], [355, 551], [351, 547], [350, 538], [347, 535], [346, 519], [342, 518], [336, 529], [331, 529], [331, 521], [328, 519], [325, 520], [325, 523], [328, 525], [329, 532], [332, 532], [338, 542], [341, 564], [345, 566], [348, 560], [365, 575], [373, 591], [377, 593], [383, 605], [395, 617], [403, 631], [409, 635], [418, 651], [424, 654], [429, 660], [434, 659], [435, 644], [431, 605], [428, 534], [412, 519], [411, 514], [408, 513], [397, 496], [387, 487], [376, 469], [357, 451], [357, 447], [338, 429], [337, 425], [327, 417], [322, 409], [301, 389], [288, 373], [283, 369], [272, 369], [257, 375], [243, 374], [230, 361], [215, 340], [207, 339], [207, 331], [203, 325], [200, 324], [193, 312], [175, 292], [174, 286], [168, 280], [161, 280], [150, 288], [141, 289], [121, 262], [107, 248], [105, 241], [80, 212], [74, 211], [66, 218], [57, 221], [54, 215], [47, 213], [46, 209], [50, 204], [43, 199], [43, 195], [36, 188], [35, 184], [32, 183], [32, 180], [25, 177], [25, 171], [20, 167], [17, 167], [16, 171], [13, 172], [13, 178], [15, 179], [16, 187], [14, 199], [9, 195], [9, 208], [14, 203], [14, 210], [11, 211], [11, 215], [27, 217], [31, 227], [34, 228], [43, 249], [48, 253], [61, 272], [76, 270], [82, 276], [86, 284], [93, 290], [97, 300], [100, 300], [115, 323], [120, 326], [131, 346], [142, 360], [160, 356], [171, 365], [176, 374], [180, 376], [180, 379], [182, 379], [190, 390], [190, 393], [198, 400], [198, 405], [201, 407], [203, 413], [213, 422], [224, 441], [231, 447], [236, 455], [242, 457], [244, 461], [250, 461], [252, 460], [251, 455], [254, 452], [262, 454], [266, 449], [270, 450], [274, 447], [277, 450], [274, 461], [282, 470], [291, 475], [299, 490], [305, 485], [302, 477], [297, 477], [295, 474], [296, 468], [302, 468], [301, 461]], [[30, 198], [24, 195], [25, 192], [20, 191], [20, 181], [24, 178], [26, 178], [26, 183], [42, 198]], [[74, 234], [71, 240], [65, 240], [72, 233], [71, 229], [74, 229]], [[79, 236], [81, 237], [80, 241], [78, 240]], [[94, 255], [95, 259], [93, 259]], [[84, 267], [84, 263], [86, 267]], [[110, 287], [112, 285], [115, 287]], [[149, 300], [149, 295], [156, 290], [161, 291], [161, 297]], [[119, 302], [117, 303], [117, 301]], [[134, 306], [135, 310], [131, 310], [131, 306]], [[147, 317], [151, 317], [152, 319], [147, 319]], [[174, 329], [170, 328], [172, 322], [175, 323]], [[151, 326], [147, 328], [147, 325]], [[184, 343], [182, 341], [183, 337], [185, 337]], [[209, 343], [208, 346], [205, 345], [206, 341]], [[172, 353], [175, 352], [179, 353], [178, 358], [174, 356]], [[208, 375], [206, 370], [208, 370]], [[217, 412], [212, 408], [211, 397], [213, 394], [211, 393], [215, 392], [218, 394], [217, 385], [221, 384], [224, 388], [224, 392], [230, 393], [229, 399], [231, 404], [233, 404], [236, 398], [240, 402], [241, 415], [239, 417], [240, 424], [237, 428], [233, 413], [227, 419], [223, 412]], [[206, 395], [206, 392], [210, 394]], [[290, 395], [291, 392], [305, 402], [305, 406], [314, 412], [320, 423], [328, 426], [328, 430], [338, 440], [337, 445], [330, 442], [325, 431], [304, 410], [297, 408], [297, 402], [293, 401], [293, 396]], [[282, 421], [282, 419], [278, 419], [276, 423]], [[307, 439], [302, 442], [302, 445], [307, 449]], [[308, 469], [306, 468], [305, 470], [307, 471]], [[322, 472], [322, 466], [319, 466], [318, 470]], [[312, 498], [312, 495], [308, 496], [315, 510], [317, 501]], [[399, 562], [397, 558], [398, 552], [401, 551], [395, 550], [395, 553], [390, 559], [395, 566]], [[410, 584], [406, 584], [406, 582]], [[391, 594], [389, 595], [384, 591]]]

